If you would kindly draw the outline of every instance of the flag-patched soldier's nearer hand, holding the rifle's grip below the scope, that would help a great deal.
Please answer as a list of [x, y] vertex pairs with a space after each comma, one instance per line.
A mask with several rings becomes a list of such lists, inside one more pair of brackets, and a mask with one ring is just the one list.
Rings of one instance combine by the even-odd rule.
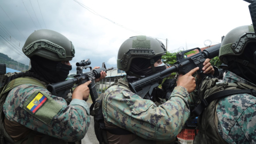
[[79, 86], [76, 87], [76, 89], [74, 90], [73, 94], [72, 94], [72, 99], [79, 99], [79, 100], [85, 100], [87, 101], [89, 98], [89, 94], [90, 94], [90, 90], [88, 85], [91, 83], [92, 81], [88, 81], [84, 84], [81, 84]]

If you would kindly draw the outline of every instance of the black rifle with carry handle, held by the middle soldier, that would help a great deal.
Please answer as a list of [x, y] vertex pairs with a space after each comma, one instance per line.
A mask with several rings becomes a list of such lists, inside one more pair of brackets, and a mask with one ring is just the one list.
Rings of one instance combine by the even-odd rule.
[[[219, 55], [220, 45], [221, 44], [214, 45], [208, 49], [203, 50], [203, 52], [198, 47], [195, 49], [178, 52], [176, 54], [177, 62], [174, 63], [174, 66], [167, 68], [159, 73], [150, 75], [148, 77], [141, 78], [136, 82], [129, 83], [129, 87], [132, 92], [140, 95], [141, 98], [144, 98], [148, 92], [151, 95], [153, 89], [159, 86], [158, 81], [164, 79], [165, 77], [169, 76], [174, 72], [187, 74], [191, 69], [199, 67], [199, 70], [197, 70], [197, 74], [206, 76], [207, 74], [203, 74], [202, 70], [202, 68], [204, 67], [203, 63], [207, 58], [212, 59]], [[185, 58], [185, 54], [193, 50], [198, 50], [198, 53], [192, 55], [191, 57]]]

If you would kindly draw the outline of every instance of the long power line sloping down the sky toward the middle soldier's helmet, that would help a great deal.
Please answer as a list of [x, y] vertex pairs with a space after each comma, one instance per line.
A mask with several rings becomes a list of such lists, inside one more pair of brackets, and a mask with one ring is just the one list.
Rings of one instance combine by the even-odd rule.
[[[75, 1], [76, 3], [78, 3], [79, 5], [81, 5], [82, 7], [84, 7], [86, 10], [90, 11], [91, 13], [93, 13], [93, 14], [95, 14], [95, 15], [98, 15], [99, 17], [101, 17], [101, 18], [103, 18], [103, 19], [108, 20], [108, 21], [114, 23], [115, 25], [117, 25], [117, 26], [119, 26], [119, 27], [122, 27], [122, 28], [124, 28], [124, 29], [126, 29], [126, 30], [130, 30], [130, 31], [132, 31], [132, 32], [134, 32], [134, 33], [137, 33], [137, 34], [140, 34], [140, 35], [145, 35], [145, 34], [139, 32], [139, 31], [135, 31], [135, 30], [132, 30], [132, 29], [130, 29], [130, 28], [126, 28], [126, 27], [120, 25], [119, 23], [116, 23], [115, 21], [110, 20], [110, 19], [108, 19], [108, 18], [106, 18], [106, 17], [104, 17], [104, 16], [98, 14], [98, 13], [95, 12], [94, 10], [90, 9], [90, 7], [87, 7], [86, 5], [80, 3], [80, 2], [78, 2], [78, 1], [76, 1], [76, 0], [74, 0], [74, 1]], [[152, 36], [148, 36], [148, 37], [152, 37]], [[157, 38], [157, 37], [152, 37], [152, 38]], [[158, 39], [164, 39], [164, 38], [158, 38]], [[164, 40], [165, 40], [165, 39], [164, 39]]]

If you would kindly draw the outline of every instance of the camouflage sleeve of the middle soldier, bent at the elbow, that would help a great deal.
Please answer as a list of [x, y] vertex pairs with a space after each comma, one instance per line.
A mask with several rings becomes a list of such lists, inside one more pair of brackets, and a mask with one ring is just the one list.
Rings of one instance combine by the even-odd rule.
[[112, 86], [103, 95], [106, 122], [148, 140], [169, 141], [178, 135], [190, 113], [184, 87], [175, 87], [170, 99], [158, 107], [121, 87]]

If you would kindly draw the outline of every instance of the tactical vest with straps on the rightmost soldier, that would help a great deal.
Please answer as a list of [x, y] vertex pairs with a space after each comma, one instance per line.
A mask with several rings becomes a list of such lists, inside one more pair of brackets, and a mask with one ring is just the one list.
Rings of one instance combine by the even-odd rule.
[[[227, 143], [225, 140], [222, 139], [221, 135], [218, 132], [218, 117], [216, 109], [219, 99], [227, 97], [228, 95], [234, 95], [238, 93], [249, 93], [253, 95], [253, 93], [250, 92], [253, 90], [256, 90], [256, 87], [244, 83], [218, 83], [218, 78], [205, 78], [205, 80], [201, 83], [198, 91], [198, 96], [201, 100], [200, 104], [204, 105], [205, 108], [202, 108], [202, 110], [204, 109], [204, 111], [201, 115], [198, 116], [197, 119], [197, 128], [199, 131], [195, 137], [194, 143]], [[211, 97], [219, 98], [214, 99]], [[206, 102], [207, 99], [213, 100], [211, 100], [211, 102]]]

